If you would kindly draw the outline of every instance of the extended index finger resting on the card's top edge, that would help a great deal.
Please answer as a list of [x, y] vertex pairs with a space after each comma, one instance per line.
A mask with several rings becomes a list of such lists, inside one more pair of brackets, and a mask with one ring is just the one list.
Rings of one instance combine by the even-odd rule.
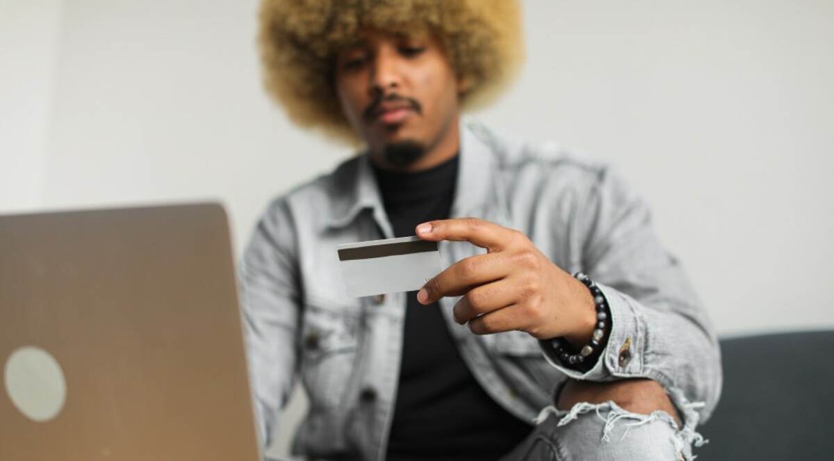
[[477, 218], [434, 220], [417, 226], [417, 236], [428, 241], [468, 241], [488, 251], [501, 251], [519, 236], [518, 230]]

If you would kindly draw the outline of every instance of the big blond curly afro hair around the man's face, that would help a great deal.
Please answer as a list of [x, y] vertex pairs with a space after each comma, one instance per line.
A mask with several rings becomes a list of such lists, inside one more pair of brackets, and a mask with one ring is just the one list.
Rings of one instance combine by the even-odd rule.
[[364, 28], [428, 28], [464, 76], [463, 109], [489, 103], [523, 59], [518, 0], [262, 0], [264, 84], [289, 118], [336, 139], [359, 139], [339, 107], [334, 58]]

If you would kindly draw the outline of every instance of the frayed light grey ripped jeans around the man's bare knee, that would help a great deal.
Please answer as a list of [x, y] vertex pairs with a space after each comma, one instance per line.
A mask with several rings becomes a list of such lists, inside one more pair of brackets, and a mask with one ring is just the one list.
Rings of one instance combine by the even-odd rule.
[[690, 460], [692, 446], [706, 443], [695, 430], [699, 404], [676, 393], [670, 397], [681, 429], [669, 413], [631, 413], [613, 401], [577, 403], [570, 410], [546, 407], [533, 432], [501, 461]]

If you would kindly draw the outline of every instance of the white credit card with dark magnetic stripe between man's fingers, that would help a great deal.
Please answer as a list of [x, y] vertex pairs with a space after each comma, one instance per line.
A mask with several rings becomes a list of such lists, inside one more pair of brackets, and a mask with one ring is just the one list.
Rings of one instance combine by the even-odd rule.
[[348, 296], [420, 290], [440, 274], [437, 242], [416, 236], [347, 243], [338, 249]]

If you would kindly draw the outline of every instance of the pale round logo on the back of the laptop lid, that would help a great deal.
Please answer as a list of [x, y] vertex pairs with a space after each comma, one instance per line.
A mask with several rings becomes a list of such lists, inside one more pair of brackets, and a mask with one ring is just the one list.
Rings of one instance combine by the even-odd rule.
[[61, 413], [67, 381], [58, 361], [40, 347], [20, 347], [6, 361], [6, 392], [27, 418], [45, 423]]

